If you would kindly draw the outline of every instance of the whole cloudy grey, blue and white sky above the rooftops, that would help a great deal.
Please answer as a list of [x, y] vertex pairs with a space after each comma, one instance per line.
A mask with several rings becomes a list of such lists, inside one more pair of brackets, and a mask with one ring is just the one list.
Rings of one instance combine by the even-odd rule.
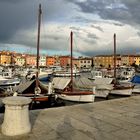
[[140, 52], [140, 0], [0, 0], [0, 50], [36, 53], [42, 4], [40, 53], [75, 55]]

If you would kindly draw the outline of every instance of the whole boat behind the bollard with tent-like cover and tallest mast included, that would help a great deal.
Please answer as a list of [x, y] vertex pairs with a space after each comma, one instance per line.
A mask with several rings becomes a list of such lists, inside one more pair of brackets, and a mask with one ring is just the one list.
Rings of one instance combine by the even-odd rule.
[[39, 81], [39, 45], [40, 45], [40, 25], [41, 25], [41, 4], [38, 13], [38, 37], [37, 37], [37, 70], [36, 76], [31, 81], [25, 81], [15, 87], [13, 96], [24, 96], [32, 99], [33, 102], [48, 102], [55, 99], [55, 95], [50, 92], [50, 88]]

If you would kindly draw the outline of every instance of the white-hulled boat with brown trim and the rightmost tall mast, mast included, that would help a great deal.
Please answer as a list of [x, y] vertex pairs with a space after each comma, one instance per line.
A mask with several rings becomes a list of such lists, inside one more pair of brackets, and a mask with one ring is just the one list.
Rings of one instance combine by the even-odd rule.
[[116, 79], [116, 34], [114, 34], [114, 86], [109, 94], [121, 95], [121, 96], [130, 96], [134, 85], [129, 84], [119, 84]]

